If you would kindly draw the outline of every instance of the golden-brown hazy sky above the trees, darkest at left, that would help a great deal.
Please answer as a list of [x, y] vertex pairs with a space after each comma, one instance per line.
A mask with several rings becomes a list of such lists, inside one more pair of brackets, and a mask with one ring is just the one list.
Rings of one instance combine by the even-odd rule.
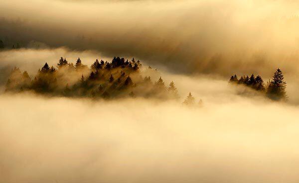
[[286, 0], [4, 0], [0, 36], [135, 56], [172, 72], [269, 77], [278, 67], [298, 73], [298, 7]]

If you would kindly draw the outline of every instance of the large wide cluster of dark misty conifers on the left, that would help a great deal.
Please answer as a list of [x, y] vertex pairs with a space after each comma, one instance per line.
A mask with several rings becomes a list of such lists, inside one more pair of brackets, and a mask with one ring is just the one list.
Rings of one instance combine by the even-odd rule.
[[[98, 59], [90, 66], [82, 63], [69, 63], [61, 57], [57, 65], [45, 63], [37, 74], [30, 78], [26, 71], [15, 67], [11, 70], [6, 83], [7, 92], [34, 91], [47, 95], [67, 97], [155, 97], [178, 99], [177, 88], [173, 81], [166, 86], [160, 77], [153, 82], [150, 76], [143, 77], [142, 64], [134, 58], [129, 61], [114, 57], [111, 62]], [[155, 72], [151, 67], [149, 70]]]

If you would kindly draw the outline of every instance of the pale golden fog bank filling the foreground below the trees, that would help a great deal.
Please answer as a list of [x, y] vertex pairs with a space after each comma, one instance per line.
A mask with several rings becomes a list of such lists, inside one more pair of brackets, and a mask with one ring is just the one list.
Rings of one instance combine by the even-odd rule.
[[31, 95], [1, 95], [0, 103], [2, 181], [299, 179], [295, 107], [243, 99], [185, 108], [142, 99], [95, 103]]

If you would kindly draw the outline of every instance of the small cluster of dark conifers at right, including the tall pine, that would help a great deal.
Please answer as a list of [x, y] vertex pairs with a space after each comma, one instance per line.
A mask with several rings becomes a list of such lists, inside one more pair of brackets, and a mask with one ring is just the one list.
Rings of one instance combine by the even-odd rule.
[[265, 93], [267, 97], [273, 100], [287, 99], [287, 83], [284, 81], [284, 75], [280, 69], [275, 71], [272, 80], [269, 80], [267, 84], [264, 83], [264, 80], [261, 76], [258, 75], [255, 77], [254, 74], [252, 74], [250, 77], [241, 76], [240, 79], [238, 79], [237, 75], [233, 75], [231, 76], [229, 82], [251, 87], [254, 90]]

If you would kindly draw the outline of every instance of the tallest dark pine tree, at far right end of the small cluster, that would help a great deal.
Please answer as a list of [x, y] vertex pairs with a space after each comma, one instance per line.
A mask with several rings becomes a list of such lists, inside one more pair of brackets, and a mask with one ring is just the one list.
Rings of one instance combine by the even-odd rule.
[[273, 100], [287, 99], [287, 82], [284, 81], [283, 72], [278, 68], [267, 88], [267, 96]]

